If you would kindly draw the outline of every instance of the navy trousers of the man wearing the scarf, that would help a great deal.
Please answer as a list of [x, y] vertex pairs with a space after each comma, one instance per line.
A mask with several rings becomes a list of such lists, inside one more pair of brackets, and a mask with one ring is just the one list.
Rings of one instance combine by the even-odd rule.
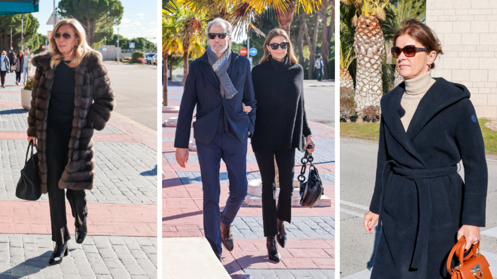
[[[247, 141], [241, 141], [233, 132], [217, 132], [209, 144], [197, 142], [197, 155], [204, 193], [204, 233], [215, 253], [223, 252], [221, 223], [229, 226], [247, 196]], [[230, 181], [230, 196], [226, 207], [219, 210], [221, 159], [226, 163]]]

